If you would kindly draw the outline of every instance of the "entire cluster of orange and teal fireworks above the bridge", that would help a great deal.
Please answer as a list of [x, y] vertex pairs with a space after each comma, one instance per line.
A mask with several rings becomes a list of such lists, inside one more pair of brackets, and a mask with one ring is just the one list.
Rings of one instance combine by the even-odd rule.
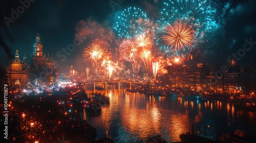
[[[162, 61], [153, 65], [153, 73], [156, 73], [156, 67], [160, 68], [161, 72], [164, 60], [168, 58], [173, 59], [170, 60], [172, 62], [168, 62], [169, 64], [179, 64], [183, 60], [193, 60], [199, 54], [203, 54], [205, 50], [210, 49], [211, 47], [205, 46], [205, 41], [214, 40], [214, 38], [210, 38], [214, 35], [212, 33], [217, 33], [217, 30], [223, 27], [223, 18], [220, 19], [218, 16], [223, 16], [221, 13], [224, 13], [223, 11], [227, 8], [222, 6], [224, 5], [218, 1], [210, 0], [163, 0], [157, 6], [160, 11], [155, 13], [149, 9], [143, 11], [136, 7], [115, 11], [109, 19], [110, 23], [113, 23], [109, 27], [112, 28], [113, 35], [109, 28], [104, 29], [104, 26], [95, 24], [93, 21], [86, 22], [86, 28], [82, 27], [84, 24], [79, 25], [78, 30], [93, 29], [91, 32], [94, 33], [95, 28], [91, 27], [94, 25], [99, 27], [100, 29], [96, 33], [97, 37], [92, 41], [100, 43], [97, 41], [100, 41], [99, 37], [102, 38], [102, 35], [108, 39], [109, 42], [100, 43], [111, 55], [108, 56], [110, 58], [108, 61], [121, 58], [123, 61], [131, 62], [131, 75], [134, 78], [140, 76], [140, 65], [144, 64], [142, 72], [150, 76], [151, 60], [159, 61], [159, 57], [163, 57]], [[150, 18], [146, 12], [150, 12]], [[112, 37], [105, 32], [109, 32]], [[86, 60], [93, 62], [96, 73], [97, 61], [101, 59], [101, 66], [104, 66], [101, 67], [100, 71], [104, 72], [101, 75], [106, 77], [108, 76], [106, 72], [109, 71], [109, 74], [112, 75], [112, 70], [107, 61], [102, 60], [102, 53], [103, 48], [99, 44], [91, 44], [84, 50], [83, 56]], [[138, 56], [140, 58], [137, 59]], [[120, 61], [121, 64], [119, 64], [123, 67], [115, 66], [115, 70], [120, 71], [119, 69], [123, 70], [127, 67], [131, 69], [131, 67], [125, 66], [123, 61]], [[111, 75], [109, 76], [111, 77]]]

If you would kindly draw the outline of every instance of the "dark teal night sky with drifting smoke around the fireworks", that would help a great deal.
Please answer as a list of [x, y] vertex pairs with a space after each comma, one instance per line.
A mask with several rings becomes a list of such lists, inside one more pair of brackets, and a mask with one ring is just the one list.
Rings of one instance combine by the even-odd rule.
[[[31, 0], [32, 1], [32, 0]], [[113, 0], [117, 2], [116, 0]], [[32, 1], [33, 2], [33, 1]], [[25, 9], [22, 14], [14, 22], [6, 23], [4, 17], [11, 17], [12, 10], [17, 10], [21, 6], [19, 1], [1, 1], [0, 2], [0, 39], [1, 39], [1, 63], [9, 65], [14, 58], [15, 50], [18, 50], [20, 59], [26, 53], [27, 60], [30, 63], [30, 55], [33, 51], [33, 43], [35, 35], [39, 33], [41, 43], [43, 44], [44, 53], [49, 52], [60, 65], [58, 68], [67, 69], [71, 64], [74, 67], [84, 64], [82, 59], [83, 47], [95, 41], [95, 39], [105, 38], [108, 35], [109, 41], [118, 39], [115, 35], [110, 35], [113, 14], [127, 7], [139, 7], [144, 10], [151, 19], [157, 19], [161, 9], [162, 1], [118, 1], [119, 6], [112, 7], [110, 1], [42, 1], [37, 0], [30, 2], [30, 6]], [[215, 44], [207, 47], [201, 55], [193, 57], [193, 63], [208, 62], [210, 64], [227, 64], [228, 56], [232, 53], [237, 53], [239, 49], [243, 49], [246, 43], [245, 39], [256, 42], [256, 18], [255, 13], [256, 1], [223, 1], [221, 8], [226, 8], [226, 14], [222, 20], [223, 36], [216, 36], [213, 40]], [[73, 43], [76, 33], [81, 30], [81, 27], [87, 27], [87, 32], [94, 34], [85, 34], [86, 39], [81, 44], [75, 47], [74, 52], [63, 60], [63, 57], [58, 57], [57, 53], [62, 48]], [[103, 32], [100, 32], [103, 29]], [[91, 30], [91, 31], [90, 31]], [[114, 32], [113, 32], [114, 33]], [[103, 36], [102, 36], [103, 35]], [[252, 44], [253, 45], [253, 44]], [[112, 44], [113, 46], [113, 44]], [[114, 45], [115, 46], [115, 45]], [[247, 45], [248, 46], [248, 45]], [[245, 56], [241, 57], [238, 64], [242, 66], [250, 65], [254, 55], [256, 43]], [[112, 48], [118, 48], [112, 47]], [[8, 55], [11, 54], [8, 57]]]

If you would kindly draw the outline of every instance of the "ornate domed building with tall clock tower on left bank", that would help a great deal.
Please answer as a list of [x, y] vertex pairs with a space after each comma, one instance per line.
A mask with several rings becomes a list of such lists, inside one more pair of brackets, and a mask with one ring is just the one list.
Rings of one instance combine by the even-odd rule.
[[45, 80], [50, 83], [58, 81], [59, 71], [54, 67], [53, 56], [46, 58], [43, 55], [42, 43], [40, 36], [37, 34], [36, 41], [33, 44], [33, 54], [31, 55], [30, 66], [27, 62], [27, 57], [24, 55], [23, 61], [19, 59], [18, 51], [14, 59], [11, 61], [11, 66], [5, 67], [7, 70], [7, 78], [11, 87], [24, 86], [30, 81], [34, 81], [35, 77], [46, 75]]

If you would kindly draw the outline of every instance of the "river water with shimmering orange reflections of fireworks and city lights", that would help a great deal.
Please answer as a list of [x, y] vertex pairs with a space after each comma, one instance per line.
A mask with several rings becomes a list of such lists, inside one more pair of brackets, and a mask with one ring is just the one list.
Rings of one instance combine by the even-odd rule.
[[[92, 91], [87, 91], [88, 93]], [[111, 137], [115, 142], [138, 142], [150, 134], [161, 134], [168, 142], [180, 141], [179, 135], [191, 131], [216, 139], [236, 129], [256, 133], [256, 113], [237, 110], [233, 103], [199, 101], [176, 96], [159, 97], [125, 90], [103, 90], [110, 105], [101, 115], [84, 118], [97, 130], [97, 138]]]

